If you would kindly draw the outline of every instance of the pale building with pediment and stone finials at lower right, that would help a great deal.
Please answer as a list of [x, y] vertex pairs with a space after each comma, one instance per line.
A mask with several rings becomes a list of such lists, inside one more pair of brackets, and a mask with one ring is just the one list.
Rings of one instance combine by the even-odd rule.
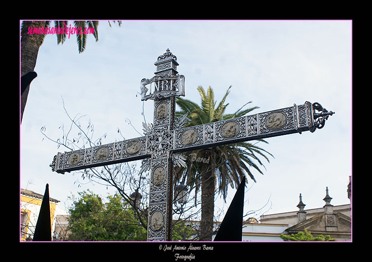
[[319, 208], [305, 210], [305, 204], [300, 201], [299, 210], [262, 215], [260, 223], [257, 220], [247, 221], [242, 229], [242, 241], [283, 241], [281, 234], [297, 234], [306, 229], [312, 236], [330, 235], [337, 241], [351, 241], [351, 177], [347, 187], [349, 204], [334, 206], [328, 187], [323, 198], [325, 205]]

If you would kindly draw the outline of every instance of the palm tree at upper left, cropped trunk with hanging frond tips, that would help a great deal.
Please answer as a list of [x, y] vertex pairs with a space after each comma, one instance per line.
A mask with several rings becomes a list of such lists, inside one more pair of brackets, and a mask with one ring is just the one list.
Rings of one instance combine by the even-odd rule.
[[[115, 21], [114, 21], [115, 22]], [[34, 33], [30, 34], [29, 28], [48, 28], [50, 27], [51, 21], [22, 21], [21, 24], [21, 76], [27, 72], [34, 71], [36, 65], [37, 54], [39, 48], [44, 41], [44, 33]], [[98, 41], [98, 21], [73, 21], [74, 27], [82, 29], [84, 32], [85, 28], [94, 28], [93, 36]], [[110, 24], [110, 23], [109, 23]], [[118, 21], [119, 26], [121, 22]], [[111, 24], [110, 24], [111, 26]], [[63, 28], [68, 27], [68, 21], [54, 21], [54, 27]], [[57, 43], [63, 44], [66, 40], [67, 33], [56, 33]], [[81, 33], [76, 35], [76, 42], [78, 46], [79, 53], [84, 52], [86, 44], [86, 33]], [[21, 123], [23, 112], [25, 110], [27, 97], [29, 95], [30, 87], [27, 87], [26, 90], [21, 95]]]

